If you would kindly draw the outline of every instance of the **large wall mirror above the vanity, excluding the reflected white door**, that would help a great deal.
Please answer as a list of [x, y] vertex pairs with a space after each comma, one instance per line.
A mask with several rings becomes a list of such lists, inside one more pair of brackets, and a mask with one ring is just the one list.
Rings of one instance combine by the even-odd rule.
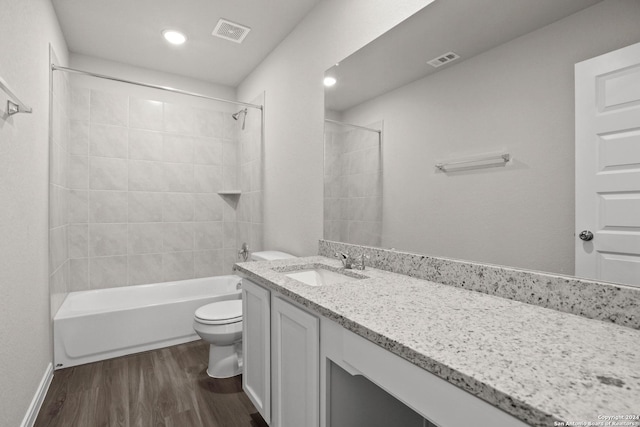
[[573, 275], [574, 64], [632, 3], [437, 0], [327, 70], [325, 239]]

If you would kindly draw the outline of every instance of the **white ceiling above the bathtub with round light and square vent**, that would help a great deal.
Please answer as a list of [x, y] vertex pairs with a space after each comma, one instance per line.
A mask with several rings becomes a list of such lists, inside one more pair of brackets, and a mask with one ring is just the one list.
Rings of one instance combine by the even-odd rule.
[[[72, 53], [236, 87], [320, 0], [52, 0]], [[213, 37], [218, 19], [248, 26], [242, 44]], [[171, 46], [161, 31], [184, 32]]]

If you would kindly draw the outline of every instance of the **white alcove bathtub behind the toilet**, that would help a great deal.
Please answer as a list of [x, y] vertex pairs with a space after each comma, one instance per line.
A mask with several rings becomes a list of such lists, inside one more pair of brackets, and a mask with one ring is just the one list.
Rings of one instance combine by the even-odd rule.
[[241, 298], [238, 276], [71, 292], [53, 319], [56, 369], [199, 339], [198, 307]]

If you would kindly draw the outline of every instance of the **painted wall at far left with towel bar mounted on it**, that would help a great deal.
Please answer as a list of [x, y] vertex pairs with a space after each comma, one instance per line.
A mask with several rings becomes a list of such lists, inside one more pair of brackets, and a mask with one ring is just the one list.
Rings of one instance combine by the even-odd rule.
[[67, 47], [48, 0], [0, 0], [0, 76], [33, 108], [5, 115], [0, 92], [0, 424], [18, 426], [52, 361], [48, 287], [49, 43]]

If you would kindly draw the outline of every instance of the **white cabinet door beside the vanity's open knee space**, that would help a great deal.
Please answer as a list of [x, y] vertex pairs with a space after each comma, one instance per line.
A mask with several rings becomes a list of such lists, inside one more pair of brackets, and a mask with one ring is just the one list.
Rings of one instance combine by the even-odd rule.
[[273, 426], [319, 425], [318, 318], [274, 297], [272, 313]]

